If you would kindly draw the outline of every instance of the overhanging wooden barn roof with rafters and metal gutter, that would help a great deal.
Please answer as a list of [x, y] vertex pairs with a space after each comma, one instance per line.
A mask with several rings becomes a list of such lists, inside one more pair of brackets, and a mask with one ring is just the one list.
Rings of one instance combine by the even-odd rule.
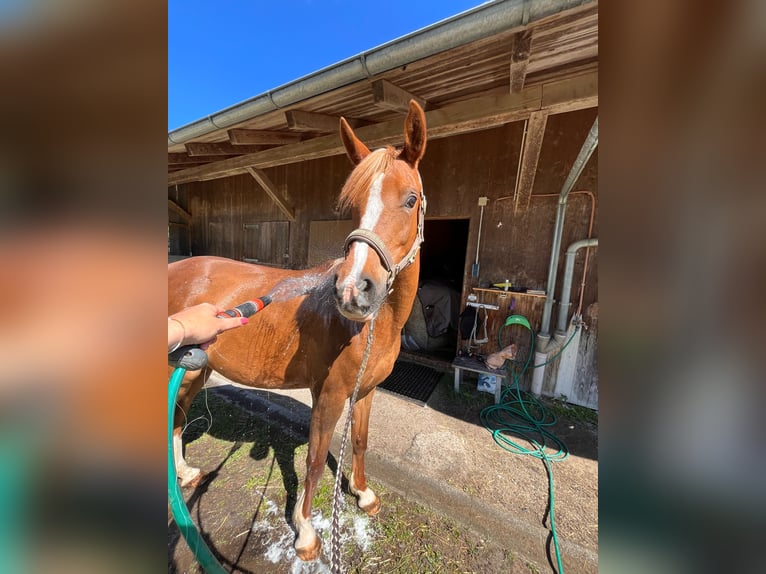
[[168, 133], [168, 183], [343, 152], [344, 116], [371, 147], [401, 144], [410, 98], [429, 138], [598, 105], [597, 0], [500, 0]]

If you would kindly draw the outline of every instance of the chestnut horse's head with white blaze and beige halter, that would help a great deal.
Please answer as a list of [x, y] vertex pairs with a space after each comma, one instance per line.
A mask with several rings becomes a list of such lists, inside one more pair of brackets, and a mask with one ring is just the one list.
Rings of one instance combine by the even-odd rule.
[[335, 298], [344, 317], [368, 321], [392, 291], [397, 274], [415, 261], [423, 241], [426, 198], [418, 163], [426, 149], [426, 118], [410, 101], [401, 149], [371, 152], [344, 118], [340, 135], [356, 167], [339, 206], [350, 208], [355, 229], [346, 238], [345, 259], [337, 269]]

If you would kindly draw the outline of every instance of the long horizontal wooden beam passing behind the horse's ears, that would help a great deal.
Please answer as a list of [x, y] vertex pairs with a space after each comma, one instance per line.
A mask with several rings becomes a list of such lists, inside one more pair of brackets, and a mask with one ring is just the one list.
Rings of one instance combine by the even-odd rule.
[[[598, 72], [590, 72], [565, 80], [524, 88], [519, 94], [494, 94], [456, 102], [426, 112], [428, 137], [438, 139], [460, 133], [489, 129], [509, 122], [524, 120], [532, 112], [558, 114], [598, 106]], [[402, 120], [361, 127], [356, 135], [375, 148], [401, 145], [404, 134]], [[268, 168], [344, 153], [340, 136], [316, 137], [259, 153], [181, 170], [168, 175], [168, 184], [187, 183], [229, 177], [245, 173], [246, 167]]]

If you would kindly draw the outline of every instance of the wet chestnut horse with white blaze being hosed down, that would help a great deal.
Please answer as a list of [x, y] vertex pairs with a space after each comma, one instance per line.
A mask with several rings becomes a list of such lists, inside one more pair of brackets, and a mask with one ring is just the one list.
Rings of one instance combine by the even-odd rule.
[[278, 291], [280, 285], [298, 287], [297, 296], [275, 296], [247, 325], [219, 335], [208, 349], [208, 367], [187, 373], [178, 395], [174, 448], [181, 484], [195, 484], [201, 474], [183, 458], [181, 425], [210, 368], [251, 387], [311, 389], [307, 474], [293, 512], [295, 551], [303, 560], [319, 554], [321, 541], [311, 526], [312, 498], [335, 425], [353, 392], [373, 319], [369, 363], [353, 410], [349, 486], [362, 510], [373, 515], [380, 509], [364, 473], [370, 405], [375, 387], [394, 367], [400, 333], [415, 300], [426, 207], [418, 173], [426, 122], [414, 101], [404, 122], [402, 149], [371, 152], [343, 118], [340, 135], [355, 165], [339, 198], [341, 208], [350, 208], [355, 228], [346, 239], [343, 259], [303, 271], [219, 257], [193, 257], [168, 266], [169, 313], [203, 301], [231, 308]]

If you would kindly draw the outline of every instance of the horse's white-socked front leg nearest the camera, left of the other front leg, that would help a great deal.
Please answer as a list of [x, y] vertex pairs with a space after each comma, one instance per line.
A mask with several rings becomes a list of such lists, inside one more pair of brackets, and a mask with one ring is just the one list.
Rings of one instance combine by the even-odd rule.
[[[325, 388], [332, 387], [329, 382]], [[338, 423], [346, 397], [336, 394], [319, 393], [317, 397], [312, 391], [314, 405], [311, 410], [311, 426], [309, 427], [309, 452], [306, 456], [306, 480], [303, 492], [298, 497], [293, 510], [293, 525], [298, 533], [295, 540], [295, 553], [304, 561], [316, 560], [322, 541], [316, 535], [311, 525], [311, 505], [316, 487], [322, 478], [327, 453], [330, 450], [335, 425]], [[340, 471], [340, 469], [338, 469]]]

